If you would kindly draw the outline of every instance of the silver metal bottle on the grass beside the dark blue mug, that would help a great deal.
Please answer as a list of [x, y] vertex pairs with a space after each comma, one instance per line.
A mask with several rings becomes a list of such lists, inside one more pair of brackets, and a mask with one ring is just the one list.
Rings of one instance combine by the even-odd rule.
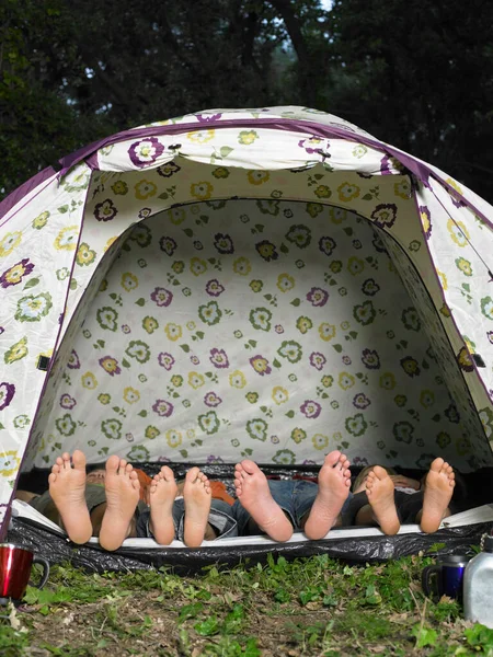
[[463, 575], [463, 615], [493, 629], [493, 537], [484, 534], [481, 548]]

